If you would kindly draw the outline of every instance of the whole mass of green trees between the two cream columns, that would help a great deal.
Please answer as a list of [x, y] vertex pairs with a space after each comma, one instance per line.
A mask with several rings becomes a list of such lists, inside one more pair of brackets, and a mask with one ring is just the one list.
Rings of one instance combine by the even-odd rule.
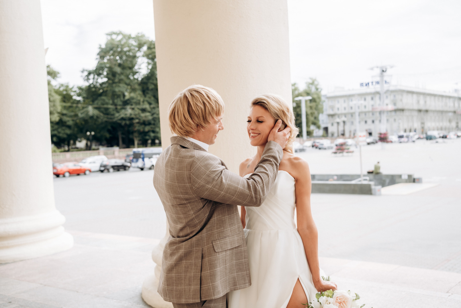
[[[93, 140], [108, 146], [160, 142], [155, 42], [143, 34], [110, 32], [106, 37], [95, 68], [83, 70], [86, 85], [52, 86], [50, 120], [57, 146], [87, 138], [86, 132], [95, 132]], [[49, 85], [58, 76], [48, 68]]]

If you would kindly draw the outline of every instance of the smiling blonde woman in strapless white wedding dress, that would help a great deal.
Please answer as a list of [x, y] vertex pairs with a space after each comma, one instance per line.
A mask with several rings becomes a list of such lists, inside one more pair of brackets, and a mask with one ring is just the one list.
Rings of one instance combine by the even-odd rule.
[[229, 308], [305, 308], [302, 303], [313, 302], [318, 291], [337, 288], [321, 279], [309, 166], [293, 155], [298, 129], [293, 112], [281, 97], [266, 94], [252, 101], [247, 132], [250, 144], [258, 150], [240, 164], [240, 175], [254, 172], [278, 119], [282, 120], [281, 130], [291, 128], [290, 139], [264, 203], [247, 209], [242, 206], [251, 286], [228, 293]]

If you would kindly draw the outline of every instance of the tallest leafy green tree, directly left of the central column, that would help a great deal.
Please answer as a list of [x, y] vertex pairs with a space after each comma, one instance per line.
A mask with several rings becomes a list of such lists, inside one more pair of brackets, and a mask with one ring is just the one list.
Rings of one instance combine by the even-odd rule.
[[130, 146], [131, 139], [135, 146], [160, 140], [154, 41], [143, 34], [110, 32], [99, 47], [96, 67], [83, 72], [88, 82], [83, 103], [95, 106], [89, 116], [110, 122], [107, 131], [118, 137], [120, 147]]

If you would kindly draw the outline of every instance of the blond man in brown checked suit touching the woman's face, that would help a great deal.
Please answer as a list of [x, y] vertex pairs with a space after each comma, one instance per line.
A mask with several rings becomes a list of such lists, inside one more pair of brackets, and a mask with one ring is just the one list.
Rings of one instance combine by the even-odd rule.
[[154, 187], [170, 230], [158, 292], [175, 308], [225, 308], [227, 292], [251, 285], [236, 205], [262, 204], [290, 135], [288, 127], [278, 132], [279, 120], [254, 173], [242, 178], [208, 153], [224, 129], [223, 113], [219, 94], [202, 85], [179, 93], [168, 109], [177, 136], [155, 164]]

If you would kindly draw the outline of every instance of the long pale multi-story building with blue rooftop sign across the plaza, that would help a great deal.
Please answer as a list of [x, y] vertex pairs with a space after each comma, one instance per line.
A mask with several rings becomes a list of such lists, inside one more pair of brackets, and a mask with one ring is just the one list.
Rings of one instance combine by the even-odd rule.
[[390, 111], [375, 111], [381, 104], [379, 88], [337, 91], [326, 95], [328, 134], [354, 136], [356, 111], [359, 131], [378, 136], [380, 112], [386, 112], [387, 132], [427, 133], [455, 131], [461, 127], [461, 97], [453, 93], [390, 85], [384, 93], [384, 106]]

